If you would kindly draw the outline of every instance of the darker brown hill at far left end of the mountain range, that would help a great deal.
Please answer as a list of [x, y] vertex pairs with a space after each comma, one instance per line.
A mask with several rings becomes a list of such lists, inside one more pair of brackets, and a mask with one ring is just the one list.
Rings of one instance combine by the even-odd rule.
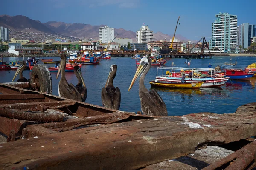
[[17, 31], [24, 31], [24, 29], [32, 29], [34, 32], [55, 34], [54, 31], [44, 26], [44, 24], [41, 23], [40, 21], [35, 21], [22, 15], [17, 15], [14, 17], [10, 17], [8, 15], [1, 15], [0, 26], [15, 29]]

